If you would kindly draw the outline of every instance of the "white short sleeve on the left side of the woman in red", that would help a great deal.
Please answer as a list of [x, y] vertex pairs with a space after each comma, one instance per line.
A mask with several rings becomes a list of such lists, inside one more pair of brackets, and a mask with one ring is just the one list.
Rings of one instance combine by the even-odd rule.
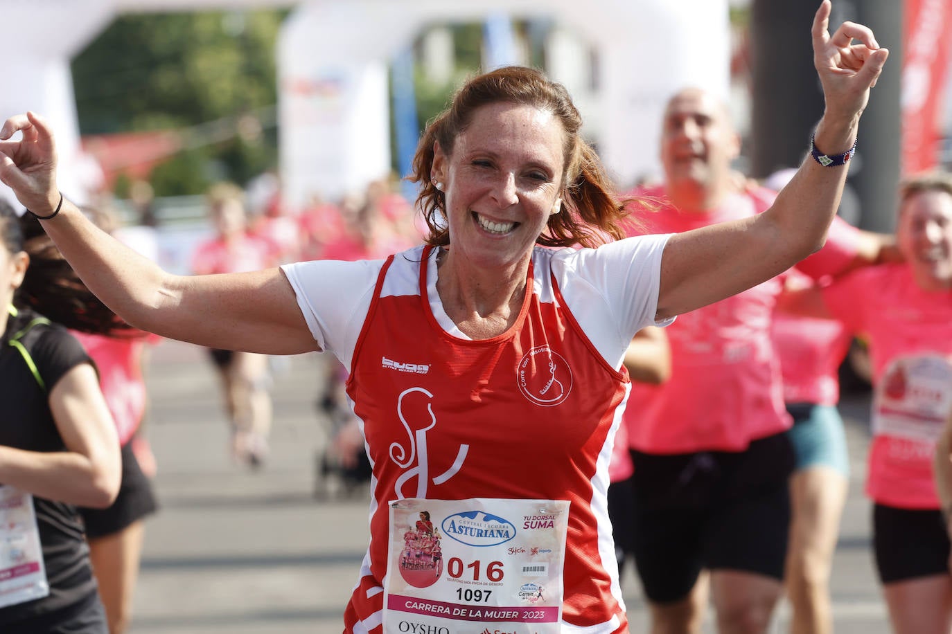
[[319, 259], [281, 267], [314, 340], [348, 371], [383, 266], [383, 259]]

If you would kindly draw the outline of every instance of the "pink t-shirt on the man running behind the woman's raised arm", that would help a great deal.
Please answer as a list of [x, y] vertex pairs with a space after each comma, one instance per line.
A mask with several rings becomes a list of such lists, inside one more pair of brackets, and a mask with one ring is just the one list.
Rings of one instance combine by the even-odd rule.
[[[635, 196], [664, 201], [664, 188]], [[732, 194], [710, 213], [682, 213], [666, 203], [640, 215], [640, 233], [683, 233], [763, 212], [776, 194], [764, 188]], [[813, 272], [835, 269], [843, 236], [831, 233]], [[820, 254], [816, 254], [820, 255]], [[815, 257], [815, 256], [813, 256]], [[833, 271], [831, 271], [833, 272]], [[625, 424], [629, 445], [658, 454], [744, 451], [751, 441], [783, 432], [792, 419], [783, 400], [781, 368], [771, 337], [783, 277], [681, 315], [667, 327], [671, 378], [664, 385], [633, 384]]]

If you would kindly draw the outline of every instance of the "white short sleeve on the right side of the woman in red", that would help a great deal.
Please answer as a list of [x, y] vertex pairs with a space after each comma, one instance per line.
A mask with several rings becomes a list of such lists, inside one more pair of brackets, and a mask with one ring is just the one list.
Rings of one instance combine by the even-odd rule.
[[615, 369], [645, 326], [656, 321], [664, 246], [673, 234], [638, 236], [609, 242], [597, 249], [563, 249], [552, 270], [565, 303], [595, 348]]

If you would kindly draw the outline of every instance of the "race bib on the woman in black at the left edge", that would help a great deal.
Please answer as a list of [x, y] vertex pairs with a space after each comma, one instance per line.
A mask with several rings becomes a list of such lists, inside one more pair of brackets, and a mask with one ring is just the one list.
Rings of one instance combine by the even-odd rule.
[[33, 496], [0, 487], [0, 607], [50, 594]]

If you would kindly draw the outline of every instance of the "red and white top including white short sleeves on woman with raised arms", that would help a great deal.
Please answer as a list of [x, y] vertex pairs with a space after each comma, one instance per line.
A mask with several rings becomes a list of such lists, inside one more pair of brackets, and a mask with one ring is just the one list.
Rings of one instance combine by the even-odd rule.
[[[284, 267], [311, 332], [349, 361], [347, 394], [373, 465], [370, 546], [345, 631], [382, 630], [388, 502], [413, 497], [568, 500], [563, 627], [626, 631], [607, 468], [629, 388], [621, 357], [631, 336], [653, 323], [665, 241], [535, 248], [516, 323], [484, 340], [447, 327], [427, 280], [437, 275], [431, 247], [383, 264]], [[367, 270], [379, 275], [361, 308], [367, 304], [351, 298], [363, 296], [361, 285], [339, 280]], [[329, 271], [341, 275], [328, 279]], [[364, 315], [359, 336], [339, 334], [347, 331], [343, 316], [352, 323]], [[614, 332], [593, 336], [618, 339], [604, 351], [585, 335], [599, 323]]]

